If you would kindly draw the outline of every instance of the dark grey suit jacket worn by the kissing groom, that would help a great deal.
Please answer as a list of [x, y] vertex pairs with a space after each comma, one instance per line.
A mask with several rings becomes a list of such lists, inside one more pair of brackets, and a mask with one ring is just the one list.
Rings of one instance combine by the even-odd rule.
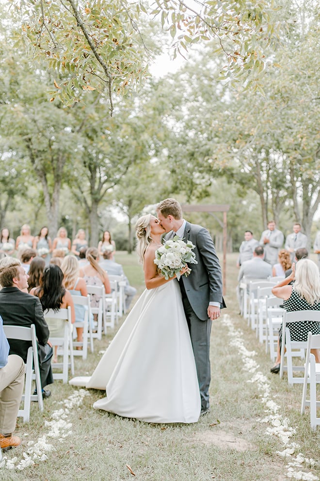
[[[173, 232], [169, 232], [166, 239], [172, 236]], [[221, 307], [225, 307], [220, 262], [208, 230], [201, 225], [187, 222], [183, 240], [191, 240], [194, 244], [193, 252], [198, 263], [190, 264], [191, 274], [183, 275], [181, 279], [193, 311], [205, 321], [209, 302], [220, 302]]]

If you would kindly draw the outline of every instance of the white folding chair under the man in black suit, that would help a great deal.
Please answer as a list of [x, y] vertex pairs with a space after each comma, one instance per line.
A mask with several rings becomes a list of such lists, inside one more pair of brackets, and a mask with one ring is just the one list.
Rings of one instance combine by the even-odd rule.
[[[30, 346], [28, 349], [27, 362], [25, 364], [25, 388], [24, 394], [21, 397], [21, 401], [23, 401], [23, 409], [19, 409], [18, 411], [18, 416], [23, 416], [23, 422], [27, 422], [30, 419], [31, 401], [38, 401], [39, 410], [43, 411], [42, 387], [40, 380], [38, 345], [35, 335], [35, 327], [34, 324], [32, 324], [30, 327], [3, 326], [3, 330], [7, 339], [18, 339], [20, 341], [30, 341], [32, 343], [32, 346]], [[31, 394], [32, 379], [35, 379], [35, 385], [37, 389], [36, 395]]]

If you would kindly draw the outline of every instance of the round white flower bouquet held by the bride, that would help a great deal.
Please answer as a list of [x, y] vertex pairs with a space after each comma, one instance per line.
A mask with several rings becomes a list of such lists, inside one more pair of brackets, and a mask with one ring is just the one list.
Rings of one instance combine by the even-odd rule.
[[[176, 274], [176, 278], [180, 279], [180, 271], [188, 264], [197, 264], [195, 254], [192, 251], [194, 245], [190, 240], [184, 242], [175, 236], [173, 239], [165, 240], [164, 244], [156, 250], [156, 258], [154, 263], [158, 266], [160, 274], [166, 279], [173, 277]], [[191, 269], [185, 273], [189, 275]]]

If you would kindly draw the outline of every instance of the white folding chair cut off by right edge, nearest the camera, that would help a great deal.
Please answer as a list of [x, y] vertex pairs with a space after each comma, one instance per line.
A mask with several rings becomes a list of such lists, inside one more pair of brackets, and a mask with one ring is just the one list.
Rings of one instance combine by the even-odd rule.
[[[310, 424], [312, 429], [316, 429], [320, 425], [320, 417], [317, 417], [317, 408], [320, 407], [320, 401], [317, 401], [317, 384], [320, 383], [320, 364], [316, 363], [316, 359], [311, 354], [311, 349], [320, 349], [320, 334], [312, 335], [308, 333], [308, 342], [305, 355], [304, 365], [304, 387], [301, 400], [301, 414], [304, 413], [305, 406], [310, 406]], [[306, 399], [307, 385], [310, 383], [310, 399]]]

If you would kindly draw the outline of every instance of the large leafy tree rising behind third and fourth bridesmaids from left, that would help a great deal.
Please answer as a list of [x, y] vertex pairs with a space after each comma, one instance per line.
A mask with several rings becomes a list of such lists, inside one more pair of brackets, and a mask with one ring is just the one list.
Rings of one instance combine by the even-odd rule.
[[[2, 49], [5, 49], [4, 44]], [[15, 155], [40, 182], [48, 226], [53, 235], [58, 227], [59, 196], [65, 168], [77, 146], [71, 130], [71, 111], [61, 102], [47, 102], [50, 72], [32, 71], [21, 51], [6, 53], [3, 58], [3, 88], [0, 92], [3, 150]], [[21, 175], [26, 177], [24, 172]]]

